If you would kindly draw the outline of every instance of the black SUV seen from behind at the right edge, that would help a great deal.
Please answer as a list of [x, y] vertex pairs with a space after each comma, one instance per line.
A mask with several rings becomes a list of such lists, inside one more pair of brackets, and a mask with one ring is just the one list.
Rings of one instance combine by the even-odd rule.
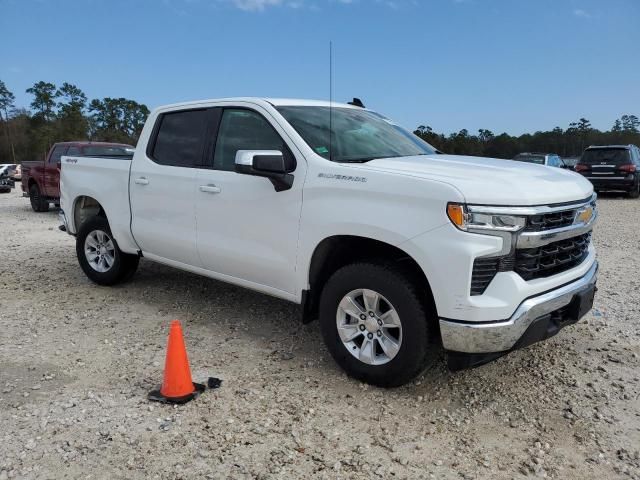
[[640, 197], [640, 148], [635, 145], [589, 147], [575, 171], [598, 190], [623, 190], [631, 198]]

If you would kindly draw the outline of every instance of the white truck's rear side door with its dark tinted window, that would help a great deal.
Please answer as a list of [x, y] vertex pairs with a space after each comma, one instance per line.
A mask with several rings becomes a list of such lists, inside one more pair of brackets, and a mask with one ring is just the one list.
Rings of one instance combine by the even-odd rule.
[[200, 266], [194, 195], [208, 118], [207, 109], [162, 113], [147, 150], [136, 149], [129, 177], [131, 232], [150, 258]]

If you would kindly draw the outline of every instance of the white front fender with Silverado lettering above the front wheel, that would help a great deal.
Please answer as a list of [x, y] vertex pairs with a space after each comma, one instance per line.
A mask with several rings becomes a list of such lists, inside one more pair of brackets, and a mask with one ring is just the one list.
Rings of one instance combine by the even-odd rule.
[[349, 164], [313, 163], [300, 219], [299, 290], [309, 288], [311, 259], [324, 239], [349, 235], [398, 247], [450, 223], [446, 206], [456, 201], [464, 199], [446, 183]]

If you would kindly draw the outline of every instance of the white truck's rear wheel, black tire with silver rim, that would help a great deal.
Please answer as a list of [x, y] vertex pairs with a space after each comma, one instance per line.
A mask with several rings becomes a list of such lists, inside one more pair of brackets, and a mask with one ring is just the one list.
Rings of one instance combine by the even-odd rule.
[[84, 273], [99, 285], [115, 285], [131, 278], [138, 268], [137, 255], [124, 253], [105, 217], [93, 217], [80, 227], [76, 255]]

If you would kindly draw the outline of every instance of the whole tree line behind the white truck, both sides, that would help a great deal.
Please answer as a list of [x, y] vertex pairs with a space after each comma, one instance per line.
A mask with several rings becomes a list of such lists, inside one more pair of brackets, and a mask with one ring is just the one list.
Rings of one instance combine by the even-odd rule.
[[[146, 105], [126, 98], [90, 102], [77, 86], [40, 81], [26, 90], [30, 108], [15, 105], [15, 96], [0, 80], [0, 163], [20, 163], [43, 157], [55, 142], [94, 140], [135, 145], [149, 115]], [[445, 135], [420, 125], [414, 133], [444, 153], [513, 158], [520, 152], [548, 152], [562, 157], [579, 156], [589, 145], [640, 145], [640, 120], [622, 115], [610, 130], [600, 131], [586, 118], [549, 131], [512, 136], [480, 129]]]

